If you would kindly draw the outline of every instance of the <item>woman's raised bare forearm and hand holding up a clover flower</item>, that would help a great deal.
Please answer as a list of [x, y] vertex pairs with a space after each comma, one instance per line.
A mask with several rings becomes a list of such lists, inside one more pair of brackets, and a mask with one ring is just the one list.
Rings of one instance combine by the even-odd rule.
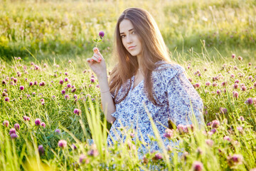
[[116, 120], [116, 118], [114, 118], [111, 114], [114, 113], [115, 106], [113, 98], [110, 94], [110, 87], [107, 81], [107, 67], [105, 59], [97, 48], [94, 48], [93, 51], [94, 54], [92, 58], [87, 58], [87, 63], [92, 71], [96, 74], [99, 81], [102, 108], [105, 117], [107, 118], [107, 122], [114, 123], [114, 120]]

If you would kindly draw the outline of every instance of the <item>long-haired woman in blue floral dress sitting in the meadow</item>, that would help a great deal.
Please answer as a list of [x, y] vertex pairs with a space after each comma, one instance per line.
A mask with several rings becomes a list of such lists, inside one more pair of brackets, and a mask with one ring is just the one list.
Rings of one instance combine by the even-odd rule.
[[[113, 124], [107, 138], [109, 145], [113, 140], [125, 140], [119, 129], [124, 126], [133, 129], [139, 140], [150, 145], [150, 150], [159, 150], [157, 143], [149, 138], [154, 136], [154, 131], [146, 110], [165, 145], [169, 144], [164, 138], [168, 120], [176, 126], [192, 124], [193, 113], [198, 125], [203, 127], [202, 100], [186, 78], [185, 70], [171, 63], [149, 12], [131, 8], [122, 13], [114, 33], [114, 55], [118, 63], [110, 74], [110, 83], [100, 51], [95, 49], [92, 58], [87, 59], [100, 83], [105, 116]], [[140, 150], [147, 152], [144, 145]]]

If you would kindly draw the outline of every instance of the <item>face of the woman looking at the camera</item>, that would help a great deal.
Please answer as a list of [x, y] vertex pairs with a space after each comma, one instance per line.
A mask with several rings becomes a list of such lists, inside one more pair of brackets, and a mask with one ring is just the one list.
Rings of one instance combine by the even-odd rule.
[[119, 33], [122, 43], [127, 51], [132, 56], [137, 56], [139, 58], [142, 55], [142, 41], [134, 30], [132, 22], [127, 19], [121, 21], [119, 24]]

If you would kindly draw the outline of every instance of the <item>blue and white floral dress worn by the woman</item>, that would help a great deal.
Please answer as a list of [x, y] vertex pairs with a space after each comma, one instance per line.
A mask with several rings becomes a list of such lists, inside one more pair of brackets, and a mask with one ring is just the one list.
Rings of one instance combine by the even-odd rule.
[[[159, 135], [166, 146], [170, 144], [170, 141], [164, 138], [165, 130], [169, 127], [168, 120], [171, 120], [175, 125], [192, 124], [191, 113], [193, 113], [198, 124], [204, 124], [203, 102], [186, 78], [184, 68], [178, 64], [170, 64], [164, 61], [157, 63], [161, 63], [161, 65], [152, 71], [151, 78], [156, 95], [155, 99], [158, 99], [157, 101], [161, 103], [161, 106], [154, 105], [147, 98], [144, 92], [144, 81], [133, 88], [134, 76], [132, 76], [132, 81], [129, 79], [126, 85], [121, 86], [117, 93], [117, 97], [122, 98], [122, 95], [129, 89], [127, 97], [121, 103], [116, 104], [116, 111], [112, 113], [116, 120], [112, 124], [110, 134], [107, 137], [108, 145], [112, 145], [113, 140], [124, 142], [126, 135], [121, 130], [132, 129], [138, 135], [139, 140], [144, 140], [150, 146], [150, 151], [160, 150], [157, 143], [150, 139], [150, 136], [154, 137], [154, 131], [146, 110], [154, 120]], [[130, 84], [132, 85], [130, 86]], [[113, 94], [112, 97], [114, 98]], [[144, 153], [149, 152], [146, 149], [146, 145], [139, 148], [139, 158]]]

